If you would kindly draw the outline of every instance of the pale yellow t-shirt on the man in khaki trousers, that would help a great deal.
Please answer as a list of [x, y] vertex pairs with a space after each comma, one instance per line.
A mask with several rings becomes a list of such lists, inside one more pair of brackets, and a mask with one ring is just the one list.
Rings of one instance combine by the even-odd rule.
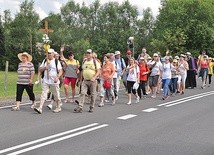
[[93, 59], [90, 61], [86, 60], [82, 65], [83, 78], [85, 80], [91, 80], [95, 76], [97, 70], [100, 69], [100, 63], [97, 60], [95, 60], [95, 64], [97, 68], [96, 70], [95, 64], [93, 61], [94, 61]]

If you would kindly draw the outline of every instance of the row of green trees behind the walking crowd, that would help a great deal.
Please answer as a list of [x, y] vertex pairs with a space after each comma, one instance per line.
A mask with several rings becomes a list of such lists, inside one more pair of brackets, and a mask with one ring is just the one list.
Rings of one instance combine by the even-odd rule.
[[[141, 17], [139, 12], [143, 12]], [[23, 51], [33, 55], [37, 67], [45, 57], [39, 31], [45, 21], [54, 30], [49, 33], [51, 47], [59, 51], [65, 46], [79, 60], [88, 48], [96, 51], [99, 58], [115, 50], [125, 55], [130, 36], [134, 37], [135, 56], [142, 47], [150, 54], [159, 51], [164, 55], [170, 50], [173, 56], [187, 51], [198, 55], [205, 49], [214, 56], [213, 0], [161, 0], [156, 17], [151, 8], [138, 10], [129, 0], [122, 4], [101, 4], [96, 0], [89, 6], [70, 0], [60, 13], [49, 13], [42, 20], [34, 9], [34, 1], [25, 0], [14, 18], [10, 10], [0, 17], [0, 70], [4, 70], [5, 61], [10, 62], [9, 70], [16, 70], [17, 54]]]

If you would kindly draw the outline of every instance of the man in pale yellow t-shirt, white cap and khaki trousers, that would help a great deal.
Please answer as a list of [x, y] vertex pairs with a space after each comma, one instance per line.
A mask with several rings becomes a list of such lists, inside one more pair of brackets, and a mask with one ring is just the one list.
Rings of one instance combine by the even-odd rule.
[[97, 77], [100, 75], [100, 63], [93, 58], [93, 52], [91, 49], [86, 51], [86, 60], [82, 64], [82, 77], [83, 81], [81, 83], [81, 93], [79, 96], [79, 104], [77, 108], [74, 109], [75, 113], [81, 113], [85, 102], [85, 96], [87, 91], [90, 90], [91, 100], [89, 112], [93, 112], [95, 101], [97, 97]]

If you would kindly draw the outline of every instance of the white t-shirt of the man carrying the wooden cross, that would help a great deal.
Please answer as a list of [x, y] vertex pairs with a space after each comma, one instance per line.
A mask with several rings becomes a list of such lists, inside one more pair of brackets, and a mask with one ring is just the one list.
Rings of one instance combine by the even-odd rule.
[[[43, 61], [42, 64], [40, 65], [40, 67], [45, 67], [46, 64], [47, 64], [47, 61], [45, 63]], [[62, 65], [58, 60], [57, 70], [59, 71], [60, 69], [62, 69]], [[56, 70], [55, 59], [53, 59], [50, 61], [49, 65], [48, 65], [48, 70], [45, 70], [45, 72], [44, 72], [43, 82], [47, 83], [47, 84], [59, 84], [60, 83], [59, 80], [56, 83], [54, 82], [54, 80], [57, 77], [57, 70]], [[47, 72], [49, 73], [49, 79], [47, 77]]]

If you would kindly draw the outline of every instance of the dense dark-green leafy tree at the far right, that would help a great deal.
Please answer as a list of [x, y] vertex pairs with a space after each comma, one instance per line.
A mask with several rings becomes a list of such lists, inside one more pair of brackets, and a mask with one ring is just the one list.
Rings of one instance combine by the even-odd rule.
[[213, 50], [213, 22], [212, 0], [163, 0], [153, 37], [166, 41], [165, 48], [174, 53]]

